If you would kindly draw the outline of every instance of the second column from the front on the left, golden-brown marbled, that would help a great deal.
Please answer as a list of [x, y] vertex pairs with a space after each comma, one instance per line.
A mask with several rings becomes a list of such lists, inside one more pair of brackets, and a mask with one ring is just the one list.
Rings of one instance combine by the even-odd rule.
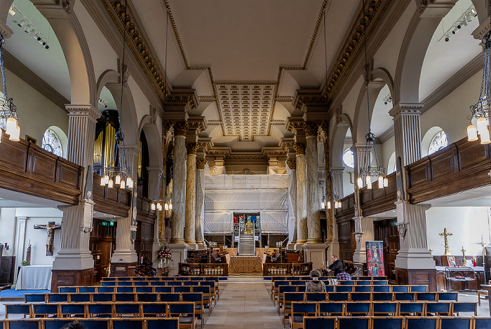
[[186, 175], [186, 226], [184, 228], [184, 241], [189, 247], [196, 249], [196, 143], [186, 144], [187, 148], [187, 175]]

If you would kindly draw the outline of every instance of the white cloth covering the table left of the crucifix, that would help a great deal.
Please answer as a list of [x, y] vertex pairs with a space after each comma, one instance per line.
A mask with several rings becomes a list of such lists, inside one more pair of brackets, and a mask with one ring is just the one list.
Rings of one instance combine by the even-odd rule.
[[21, 266], [15, 290], [50, 290], [51, 265]]

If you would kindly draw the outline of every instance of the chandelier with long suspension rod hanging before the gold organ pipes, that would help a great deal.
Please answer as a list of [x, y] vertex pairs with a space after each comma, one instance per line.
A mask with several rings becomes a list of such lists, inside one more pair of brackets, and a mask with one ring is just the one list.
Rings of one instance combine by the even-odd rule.
[[124, 134], [121, 132], [121, 116], [123, 115], [123, 87], [124, 87], [124, 57], [125, 57], [125, 45], [126, 45], [126, 7], [124, 6], [124, 20], [123, 22], [123, 59], [121, 61], [121, 101], [119, 105], [119, 127], [114, 135], [114, 147], [112, 148], [111, 160], [109, 165], [104, 168], [104, 177], [100, 181], [101, 186], [107, 186], [112, 188], [114, 184], [119, 185], [119, 188], [132, 189], [134, 186], [133, 179], [131, 179], [131, 169], [128, 167], [126, 148], [124, 145]]

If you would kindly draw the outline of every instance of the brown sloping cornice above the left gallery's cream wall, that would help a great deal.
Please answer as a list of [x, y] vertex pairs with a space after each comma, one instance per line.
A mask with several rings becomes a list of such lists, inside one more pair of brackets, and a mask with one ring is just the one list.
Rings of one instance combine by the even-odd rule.
[[68, 111], [65, 109], [65, 104], [70, 104], [70, 101], [60, 94], [60, 92], [55, 90], [55, 88], [51, 87], [51, 85], [48, 85], [46, 81], [39, 78], [36, 73], [31, 71], [27, 66], [22, 64], [20, 60], [15, 58], [15, 56], [5, 49], [4, 62], [5, 68], [8, 69], [8, 71], [14, 73], [15, 76], [21, 78], [25, 83], [53, 102], [53, 104], [59, 106], [60, 109], [68, 113]]

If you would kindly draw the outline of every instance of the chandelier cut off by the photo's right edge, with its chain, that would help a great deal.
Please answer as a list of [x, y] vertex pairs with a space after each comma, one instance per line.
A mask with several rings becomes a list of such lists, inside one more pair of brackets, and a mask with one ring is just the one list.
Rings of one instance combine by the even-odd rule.
[[[490, 10], [491, 11], [491, 10]], [[491, 55], [491, 31], [487, 31], [483, 37], [484, 45], [484, 65], [483, 65], [483, 81], [480, 85], [480, 94], [478, 102], [470, 106], [471, 115], [467, 116], [470, 121], [467, 127], [467, 139], [469, 141], [477, 141], [478, 134], [480, 135], [480, 144], [490, 144], [490, 131], [487, 129], [489, 125], [491, 95], [490, 95], [490, 55]], [[472, 120], [476, 119], [476, 126]]]

